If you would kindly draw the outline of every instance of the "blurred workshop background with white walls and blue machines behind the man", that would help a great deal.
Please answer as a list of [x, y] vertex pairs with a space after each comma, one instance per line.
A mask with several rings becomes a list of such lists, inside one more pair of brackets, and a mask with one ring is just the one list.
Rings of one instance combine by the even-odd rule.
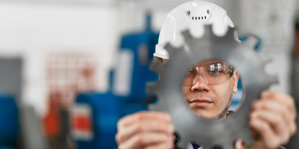
[[[0, 0], [0, 149], [113, 148], [117, 120], [155, 101], [145, 85], [157, 79], [148, 67], [158, 34], [187, 1]], [[207, 1], [272, 59], [271, 90], [299, 107], [299, 1]], [[299, 133], [286, 148], [298, 142]]]

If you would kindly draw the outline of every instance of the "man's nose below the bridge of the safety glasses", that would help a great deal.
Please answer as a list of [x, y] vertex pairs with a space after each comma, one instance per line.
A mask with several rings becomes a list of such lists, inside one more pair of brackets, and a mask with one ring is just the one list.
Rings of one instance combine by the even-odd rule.
[[209, 91], [210, 87], [208, 85], [207, 80], [205, 79], [205, 76], [202, 73], [198, 73], [196, 75], [196, 78], [193, 81], [193, 85], [191, 90], [193, 92], [195, 91]]

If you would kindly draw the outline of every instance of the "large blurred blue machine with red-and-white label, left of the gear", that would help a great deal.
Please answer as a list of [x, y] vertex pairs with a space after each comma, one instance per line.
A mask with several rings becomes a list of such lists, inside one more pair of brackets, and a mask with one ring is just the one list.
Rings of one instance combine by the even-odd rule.
[[126, 114], [147, 110], [154, 98], [147, 98], [146, 82], [157, 79], [149, 63], [158, 43], [147, 15], [147, 29], [123, 36], [116, 68], [110, 75], [107, 93], [81, 94], [71, 108], [71, 134], [79, 149], [111, 149], [116, 146], [118, 119]]

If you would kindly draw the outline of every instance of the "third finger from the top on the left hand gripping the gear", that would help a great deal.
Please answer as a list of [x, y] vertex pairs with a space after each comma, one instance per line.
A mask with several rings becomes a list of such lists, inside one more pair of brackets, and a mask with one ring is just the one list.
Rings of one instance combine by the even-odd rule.
[[146, 148], [152, 144], [163, 144], [163, 142], [174, 142], [171, 133], [142, 132], [138, 133], [121, 145], [121, 149]]

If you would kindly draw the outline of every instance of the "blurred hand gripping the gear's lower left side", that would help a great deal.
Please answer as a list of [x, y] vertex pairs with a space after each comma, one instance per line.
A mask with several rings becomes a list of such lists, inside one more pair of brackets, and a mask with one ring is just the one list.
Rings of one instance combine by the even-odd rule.
[[168, 113], [142, 111], [118, 121], [115, 140], [120, 149], [173, 149], [174, 129]]

